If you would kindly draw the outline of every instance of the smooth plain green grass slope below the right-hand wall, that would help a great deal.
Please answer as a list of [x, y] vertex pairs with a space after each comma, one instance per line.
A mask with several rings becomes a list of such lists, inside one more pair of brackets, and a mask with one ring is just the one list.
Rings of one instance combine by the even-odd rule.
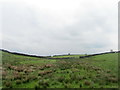
[[88, 58], [86, 62], [108, 70], [111, 73], [118, 73], [118, 53], [93, 56]]

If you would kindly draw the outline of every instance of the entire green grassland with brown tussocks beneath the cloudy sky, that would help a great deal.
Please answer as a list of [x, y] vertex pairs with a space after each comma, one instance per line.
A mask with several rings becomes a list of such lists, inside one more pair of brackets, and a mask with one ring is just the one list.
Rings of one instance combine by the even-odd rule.
[[80, 59], [79, 56], [80, 55], [55, 56], [55, 58], [74, 57], [59, 60], [2, 52], [3, 87], [118, 87], [118, 53], [103, 54], [83, 59]]

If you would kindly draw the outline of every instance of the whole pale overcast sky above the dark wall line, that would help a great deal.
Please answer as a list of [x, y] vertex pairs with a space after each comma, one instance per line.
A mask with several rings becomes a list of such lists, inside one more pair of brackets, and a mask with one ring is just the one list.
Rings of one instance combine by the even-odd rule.
[[2, 48], [37, 55], [118, 49], [118, 0], [2, 0]]

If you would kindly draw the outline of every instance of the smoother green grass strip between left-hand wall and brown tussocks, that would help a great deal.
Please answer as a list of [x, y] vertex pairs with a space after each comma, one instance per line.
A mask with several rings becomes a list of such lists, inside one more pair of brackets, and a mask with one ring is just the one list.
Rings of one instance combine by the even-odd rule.
[[2, 52], [2, 61], [4, 63], [11, 63], [11, 64], [43, 64], [43, 63], [53, 63], [56, 60], [48, 60], [43, 58], [36, 58], [36, 57], [27, 57], [21, 55], [14, 55], [9, 54], [6, 52]]

